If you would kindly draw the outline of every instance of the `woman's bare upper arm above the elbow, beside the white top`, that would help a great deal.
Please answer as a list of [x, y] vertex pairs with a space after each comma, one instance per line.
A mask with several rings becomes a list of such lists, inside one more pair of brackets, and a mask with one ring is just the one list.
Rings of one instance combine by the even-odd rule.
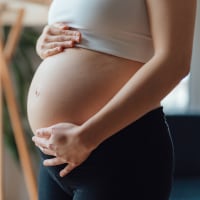
[[146, 0], [146, 3], [155, 55], [176, 59], [184, 56], [190, 60], [196, 0]]

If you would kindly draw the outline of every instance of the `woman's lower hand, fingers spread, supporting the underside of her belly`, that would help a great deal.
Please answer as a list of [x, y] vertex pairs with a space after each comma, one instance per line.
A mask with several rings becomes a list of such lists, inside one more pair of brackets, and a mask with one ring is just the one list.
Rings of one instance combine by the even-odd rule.
[[72, 123], [58, 123], [38, 129], [32, 138], [44, 154], [55, 156], [44, 160], [45, 166], [67, 164], [60, 171], [61, 177], [83, 163], [92, 152], [83, 142], [80, 127]]

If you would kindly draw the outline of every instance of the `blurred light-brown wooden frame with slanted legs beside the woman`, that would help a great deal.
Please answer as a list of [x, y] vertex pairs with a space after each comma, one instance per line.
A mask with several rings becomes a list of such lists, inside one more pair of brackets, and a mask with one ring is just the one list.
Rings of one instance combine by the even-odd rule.
[[0, 37], [0, 200], [4, 198], [4, 158], [3, 158], [3, 109], [2, 109], [2, 96], [4, 94], [8, 111], [11, 120], [11, 126], [19, 153], [20, 163], [22, 171], [24, 173], [25, 182], [30, 200], [37, 200], [37, 187], [34, 172], [32, 169], [31, 159], [28, 153], [28, 148], [20, 121], [17, 101], [15, 99], [14, 88], [9, 72], [9, 62], [16, 49], [17, 42], [19, 40], [20, 32], [22, 29], [22, 22], [24, 17], [24, 10], [19, 9], [17, 11], [18, 16], [15, 24], [9, 33], [8, 40], [3, 45], [2, 38]]

